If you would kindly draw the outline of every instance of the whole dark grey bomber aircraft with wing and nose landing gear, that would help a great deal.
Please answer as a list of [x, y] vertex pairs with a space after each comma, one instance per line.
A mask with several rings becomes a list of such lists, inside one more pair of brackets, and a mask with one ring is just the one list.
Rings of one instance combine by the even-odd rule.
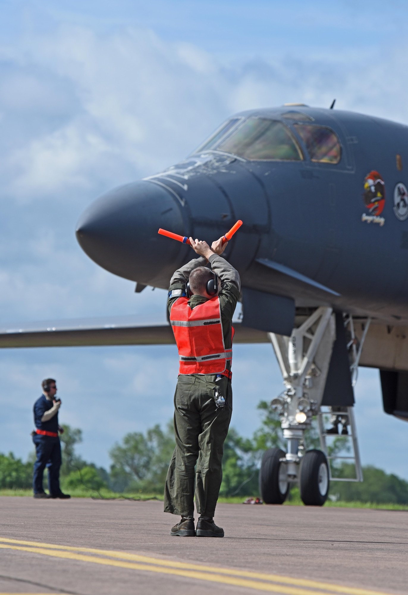
[[[408, 419], [407, 168], [401, 124], [303, 104], [256, 109], [229, 118], [186, 161], [111, 190], [80, 217], [83, 250], [135, 281], [136, 292], [167, 289], [192, 258], [158, 228], [211, 242], [243, 221], [224, 253], [243, 287], [234, 342], [271, 342], [284, 381], [271, 405], [287, 452], [263, 455], [266, 503], [283, 503], [298, 482], [305, 504], [324, 504], [330, 478], [340, 479], [341, 453], [330, 448], [339, 427], [355, 465], [350, 479], [362, 480], [359, 365], [379, 368], [384, 411]], [[165, 321], [130, 317], [48, 328], [3, 331], [0, 345], [174, 342]], [[315, 416], [321, 450], [307, 450]]]

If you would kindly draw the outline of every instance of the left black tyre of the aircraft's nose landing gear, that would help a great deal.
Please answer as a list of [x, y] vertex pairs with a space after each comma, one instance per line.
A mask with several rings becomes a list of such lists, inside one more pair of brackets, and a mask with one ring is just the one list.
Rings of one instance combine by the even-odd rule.
[[285, 453], [280, 448], [265, 450], [259, 470], [259, 491], [265, 504], [283, 504], [290, 484], [286, 475], [286, 464], [280, 462]]

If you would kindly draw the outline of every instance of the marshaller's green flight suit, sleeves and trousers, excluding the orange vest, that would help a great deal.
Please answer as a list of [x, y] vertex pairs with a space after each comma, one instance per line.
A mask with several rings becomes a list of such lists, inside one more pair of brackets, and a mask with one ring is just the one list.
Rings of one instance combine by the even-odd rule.
[[[191, 271], [205, 266], [204, 258], [197, 258], [176, 271], [170, 291], [184, 289]], [[221, 279], [219, 303], [225, 349], [232, 346], [233, 314], [240, 296], [237, 271], [221, 256], [211, 256], [209, 264]], [[169, 292], [170, 293], [170, 292]], [[178, 296], [168, 299], [168, 308]], [[189, 299], [190, 308], [206, 302], [202, 296]], [[230, 362], [227, 368], [231, 369]], [[167, 472], [164, 511], [175, 515], [194, 515], [194, 483], [197, 512], [214, 516], [222, 481], [224, 440], [233, 411], [231, 381], [226, 376], [216, 381], [216, 374], [180, 374], [174, 394], [175, 449]], [[214, 387], [225, 398], [225, 406], [216, 408]], [[194, 467], [196, 471], [194, 473]], [[195, 476], [195, 477], [194, 477]], [[195, 480], [195, 481], [194, 481]]]

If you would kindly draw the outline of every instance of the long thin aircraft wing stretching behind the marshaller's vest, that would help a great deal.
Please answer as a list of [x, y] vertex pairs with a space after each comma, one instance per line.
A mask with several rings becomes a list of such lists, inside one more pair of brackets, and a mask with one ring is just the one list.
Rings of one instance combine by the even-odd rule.
[[[269, 343], [268, 335], [233, 321], [234, 343]], [[0, 348], [95, 345], [174, 345], [165, 317], [144, 315], [21, 322], [0, 328]]]

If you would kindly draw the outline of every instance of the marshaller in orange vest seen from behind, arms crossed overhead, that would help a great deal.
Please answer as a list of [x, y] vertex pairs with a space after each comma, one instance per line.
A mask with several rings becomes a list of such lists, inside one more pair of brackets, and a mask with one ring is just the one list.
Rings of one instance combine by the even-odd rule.
[[[233, 314], [240, 277], [224, 258], [222, 237], [209, 248], [190, 237], [200, 258], [175, 271], [168, 308], [180, 360], [174, 395], [176, 447], [167, 473], [164, 511], [181, 515], [172, 536], [224, 537], [214, 523], [224, 440], [233, 411]], [[207, 265], [207, 266], [206, 266]], [[189, 281], [189, 287], [186, 286]], [[192, 293], [191, 297], [186, 295]], [[195, 495], [200, 518], [194, 528]]]

